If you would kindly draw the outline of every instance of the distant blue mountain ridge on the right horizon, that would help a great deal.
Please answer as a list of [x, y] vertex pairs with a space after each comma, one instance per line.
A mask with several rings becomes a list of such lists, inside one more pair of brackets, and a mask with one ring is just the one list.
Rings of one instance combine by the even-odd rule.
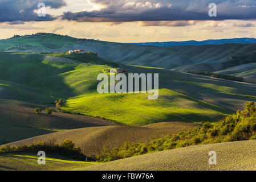
[[189, 40], [181, 42], [145, 42], [145, 43], [127, 43], [141, 46], [202, 46], [202, 45], [219, 45], [219, 44], [256, 44], [254, 38], [234, 38], [234, 39], [209, 39], [203, 41]]

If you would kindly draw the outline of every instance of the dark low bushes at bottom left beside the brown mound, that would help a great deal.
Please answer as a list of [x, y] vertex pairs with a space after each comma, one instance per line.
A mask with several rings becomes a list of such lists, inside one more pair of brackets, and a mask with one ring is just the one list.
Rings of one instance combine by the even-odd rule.
[[21, 146], [11, 146], [6, 144], [0, 147], [0, 154], [5, 152], [16, 152], [16, 151], [29, 151], [38, 152], [44, 151], [50, 154], [58, 154], [68, 156], [72, 159], [85, 160], [86, 156], [82, 154], [79, 147], [75, 147], [75, 143], [70, 139], [65, 139], [62, 143], [56, 144], [56, 139], [50, 139], [48, 142], [34, 142], [32, 144], [23, 144]]

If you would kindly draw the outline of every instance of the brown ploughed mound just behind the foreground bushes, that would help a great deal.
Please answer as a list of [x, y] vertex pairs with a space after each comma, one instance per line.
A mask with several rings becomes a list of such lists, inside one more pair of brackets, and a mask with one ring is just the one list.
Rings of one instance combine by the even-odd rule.
[[166, 135], [177, 134], [180, 131], [187, 131], [193, 127], [198, 126], [194, 123], [181, 122], [165, 122], [155, 123], [144, 127], [136, 126], [101, 126], [101, 127], [87, 127], [83, 129], [66, 130], [57, 133], [42, 135], [39, 137], [29, 138], [13, 142], [15, 146], [32, 143], [38, 141], [47, 142], [55, 138], [56, 143], [63, 142], [64, 139], [71, 139], [80, 147], [84, 154], [96, 155], [104, 148], [119, 147], [124, 142], [149, 142], [154, 138], [164, 137]]

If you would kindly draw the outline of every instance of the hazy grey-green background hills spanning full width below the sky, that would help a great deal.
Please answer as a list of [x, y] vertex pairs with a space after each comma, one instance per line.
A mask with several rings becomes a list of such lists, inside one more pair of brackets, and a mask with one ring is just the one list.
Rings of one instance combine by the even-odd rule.
[[[217, 40], [216, 40], [217, 41]], [[221, 42], [221, 41], [220, 41]], [[247, 44], [241, 44], [241, 43]], [[246, 41], [211, 42], [201, 46], [140, 46], [87, 39], [75, 39], [61, 35], [14, 37], [0, 40], [0, 51], [7, 52], [67, 52], [70, 49], [84, 49], [97, 52], [99, 57], [118, 63], [175, 69], [176, 71], [220, 71], [221, 63], [231, 56], [249, 55], [256, 45]], [[55, 46], [48, 46], [53, 44]], [[19, 47], [11, 47], [21, 45]], [[32, 47], [31, 47], [32, 46]]]

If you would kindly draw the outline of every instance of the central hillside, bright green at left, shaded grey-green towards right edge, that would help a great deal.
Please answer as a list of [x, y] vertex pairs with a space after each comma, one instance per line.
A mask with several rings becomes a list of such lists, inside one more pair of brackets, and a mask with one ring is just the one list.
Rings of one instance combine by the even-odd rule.
[[[256, 96], [255, 85], [192, 76], [165, 69], [133, 66], [125, 66], [125, 69], [137, 73], [159, 73], [159, 99], [147, 100], [147, 94], [91, 93], [70, 98], [64, 110], [103, 116], [129, 125], [163, 121], [216, 121], [223, 113], [228, 114], [231, 113], [230, 110], [241, 109], [246, 100], [255, 100]], [[192, 85], [186, 81], [212, 84], [219, 89]], [[226, 86], [230, 87], [230, 92], [225, 91]], [[230, 102], [236, 102], [238, 107], [231, 106]]]

